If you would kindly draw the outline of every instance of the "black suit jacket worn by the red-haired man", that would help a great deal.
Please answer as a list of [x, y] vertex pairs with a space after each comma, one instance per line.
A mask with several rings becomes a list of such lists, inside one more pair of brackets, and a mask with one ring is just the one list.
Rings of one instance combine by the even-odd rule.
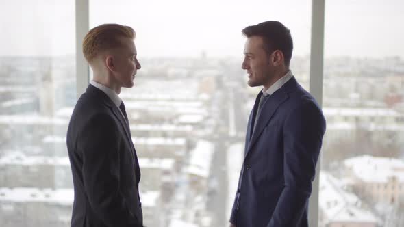
[[67, 148], [75, 191], [71, 226], [142, 226], [140, 168], [129, 126], [92, 85], [73, 110]]

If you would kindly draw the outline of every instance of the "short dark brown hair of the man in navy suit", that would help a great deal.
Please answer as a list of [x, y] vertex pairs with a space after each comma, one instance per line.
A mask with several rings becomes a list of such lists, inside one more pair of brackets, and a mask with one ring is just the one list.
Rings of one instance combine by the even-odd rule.
[[264, 50], [270, 54], [275, 50], [282, 51], [287, 67], [292, 59], [293, 40], [290, 30], [279, 21], [265, 21], [242, 29], [247, 36], [261, 36], [264, 39]]

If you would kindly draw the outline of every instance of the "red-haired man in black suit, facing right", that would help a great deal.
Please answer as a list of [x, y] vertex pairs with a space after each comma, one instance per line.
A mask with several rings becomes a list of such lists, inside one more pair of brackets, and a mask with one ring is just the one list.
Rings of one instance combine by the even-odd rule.
[[141, 67], [134, 38], [134, 29], [116, 24], [94, 27], [84, 38], [94, 77], [67, 131], [75, 191], [71, 226], [143, 226], [138, 157], [118, 96], [134, 86]]

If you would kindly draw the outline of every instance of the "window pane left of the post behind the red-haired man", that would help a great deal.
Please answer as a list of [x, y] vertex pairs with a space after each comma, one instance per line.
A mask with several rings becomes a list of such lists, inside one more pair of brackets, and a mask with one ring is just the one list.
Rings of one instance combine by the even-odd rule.
[[[75, 1], [0, 3], [0, 226], [70, 226]], [[63, 26], [61, 26], [63, 25]]]

